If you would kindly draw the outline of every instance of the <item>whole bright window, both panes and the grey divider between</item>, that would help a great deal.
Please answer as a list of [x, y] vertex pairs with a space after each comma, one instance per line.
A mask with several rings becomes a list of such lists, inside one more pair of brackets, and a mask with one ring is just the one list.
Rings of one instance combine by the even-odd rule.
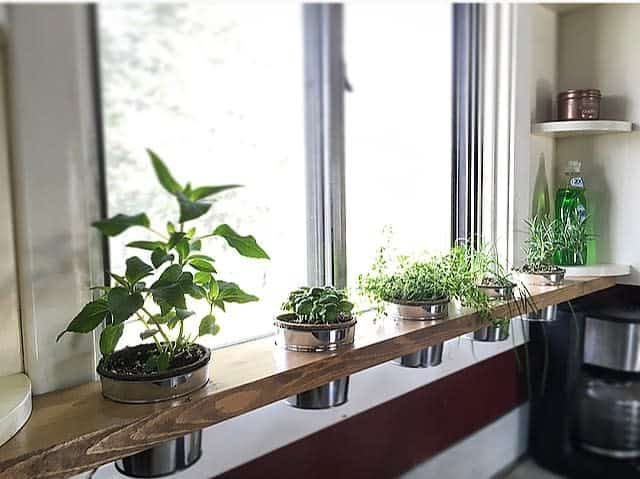
[[[179, 179], [246, 185], [198, 226], [228, 219], [272, 258], [214, 254], [261, 301], [220, 315], [207, 345], [268, 334], [308, 278], [341, 286], [346, 264], [355, 286], [386, 225], [402, 251], [450, 245], [450, 6], [121, 4], [98, 18], [109, 215], [174, 211], [151, 147]], [[111, 240], [112, 270], [139, 234]]]

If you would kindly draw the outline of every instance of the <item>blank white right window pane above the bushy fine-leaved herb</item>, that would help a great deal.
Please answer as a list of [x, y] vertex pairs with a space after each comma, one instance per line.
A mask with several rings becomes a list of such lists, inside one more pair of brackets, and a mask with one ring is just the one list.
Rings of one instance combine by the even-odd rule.
[[402, 252], [449, 247], [451, 6], [348, 4], [347, 274], [353, 286], [390, 225]]

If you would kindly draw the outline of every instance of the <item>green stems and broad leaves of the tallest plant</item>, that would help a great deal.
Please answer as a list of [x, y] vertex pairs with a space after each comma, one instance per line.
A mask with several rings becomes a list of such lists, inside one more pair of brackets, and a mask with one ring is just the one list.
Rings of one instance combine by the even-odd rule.
[[[148, 360], [148, 369], [164, 370], [171, 367], [174, 358], [198, 337], [218, 333], [220, 326], [216, 324], [214, 308], [224, 311], [228, 303], [258, 300], [236, 283], [219, 279], [214, 258], [201, 251], [203, 240], [223, 239], [248, 258], [269, 259], [269, 256], [253, 236], [242, 236], [228, 224], [221, 224], [203, 235], [198, 235], [195, 228], [185, 226], [210, 210], [211, 203], [203, 200], [240, 185], [194, 188], [187, 183], [183, 186], [153, 151], [147, 152], [158, 181], [178, 203], [178, 220], [167, 223], [166, 233], [153, 228], [145, 213], [117, 214], [93, 223], [107, 237], [140, 227], [153, 232], [157, 239], [133, 241], [127, 245], [145, 251], [148, 258], [132, 256], [126, 260], [124, 274], [110, 273], [113, 285], [94, 288], [99, 296], [84, 306], [57, 340], [67, 332], [89, 333], [106, 322], [100, 334], [100, 350], [107, 356], [115, 350], [125, 323], [140, 321], [145, 326], [140, 339], [151, 338], [156, 346], [155, 354]], [[187, 297], [208, 305], [209, 313], [200, 319], [195, 336], [184, 330], [184, 320], [194, 314], [188, 309]]]

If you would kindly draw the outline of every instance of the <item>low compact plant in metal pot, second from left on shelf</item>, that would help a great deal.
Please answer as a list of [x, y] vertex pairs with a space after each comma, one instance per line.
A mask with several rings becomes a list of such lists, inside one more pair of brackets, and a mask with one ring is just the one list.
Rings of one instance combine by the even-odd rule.
[[[275, 341], [288, 351], [335, 351], [353, 344], [356, 318], [344, 290], [333, 286], [302, 287], [282, 305], [274, 320]], [[349, 376], [287, 399], [301, 409], [326, 409], [347, 401]]]

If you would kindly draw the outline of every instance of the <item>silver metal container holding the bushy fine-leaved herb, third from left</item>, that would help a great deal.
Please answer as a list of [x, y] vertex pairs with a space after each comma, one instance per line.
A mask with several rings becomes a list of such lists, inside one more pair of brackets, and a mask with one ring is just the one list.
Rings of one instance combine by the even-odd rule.
[[[437, 301], [386, 303], [389, 316], [405, 321], [439, 321], [449, 314], [449, 299]], [[444, 342], [421, 349], [415, 353], [406, 354], [394, 359], [396, 364], [408, 368], [429, 368], [442, 363]]]

